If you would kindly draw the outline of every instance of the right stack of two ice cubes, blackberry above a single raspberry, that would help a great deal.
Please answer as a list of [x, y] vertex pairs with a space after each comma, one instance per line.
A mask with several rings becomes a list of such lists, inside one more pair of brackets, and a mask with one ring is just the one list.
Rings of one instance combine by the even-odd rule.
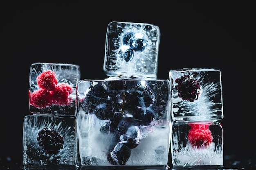
[[172, 135], [175, 168], [223, 166], [223, 118], [220, 70], [170, 70]]

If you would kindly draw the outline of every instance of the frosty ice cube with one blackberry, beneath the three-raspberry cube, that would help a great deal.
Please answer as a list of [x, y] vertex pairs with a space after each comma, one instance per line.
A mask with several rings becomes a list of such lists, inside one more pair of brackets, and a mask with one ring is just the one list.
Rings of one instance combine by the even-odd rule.
[[[47, 148], [56, 145], [54, 140], [44, 134], [43, 144], [38, 142], [38, 133], [44, 128], [53, 129], [63, 137], [63, 148], [59, 153], [49, 153]], [[23, 123], [23, 165], [51, 166], [75, 165], [77, 154], [76, 118], [74, 116], [25, 116]], [[47, 141], [49, 140], [49, 141]], [[44, 147], [42, 147], [44, 146]]]

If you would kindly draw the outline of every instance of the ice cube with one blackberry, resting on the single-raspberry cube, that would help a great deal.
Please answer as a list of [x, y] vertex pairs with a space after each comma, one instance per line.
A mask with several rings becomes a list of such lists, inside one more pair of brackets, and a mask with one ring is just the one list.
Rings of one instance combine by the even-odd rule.
[[223, 118], [220, 70], [184, 68], [170, 70], [171, 114], [176, 120], [220, 120]]

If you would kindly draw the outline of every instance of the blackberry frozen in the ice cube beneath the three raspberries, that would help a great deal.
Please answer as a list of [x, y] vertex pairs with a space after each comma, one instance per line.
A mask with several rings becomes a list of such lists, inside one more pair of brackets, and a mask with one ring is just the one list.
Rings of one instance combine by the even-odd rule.
[[57, 154], [63, 149], [64, 137], [51, 128], [42, 129], [37, 136], [38, 144], [49, 154]]

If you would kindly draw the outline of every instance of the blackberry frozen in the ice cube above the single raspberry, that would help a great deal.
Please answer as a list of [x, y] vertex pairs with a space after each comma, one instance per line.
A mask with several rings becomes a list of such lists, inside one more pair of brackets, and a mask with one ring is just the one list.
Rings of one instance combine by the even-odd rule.
[[200, 94], [200, 83], [195, 78], [189, 75], [183, 75], [175, 80], [178, 85], [175, 88], [178, 90], [178, 96], [182, 100], [193, 102], [198, 99]]

